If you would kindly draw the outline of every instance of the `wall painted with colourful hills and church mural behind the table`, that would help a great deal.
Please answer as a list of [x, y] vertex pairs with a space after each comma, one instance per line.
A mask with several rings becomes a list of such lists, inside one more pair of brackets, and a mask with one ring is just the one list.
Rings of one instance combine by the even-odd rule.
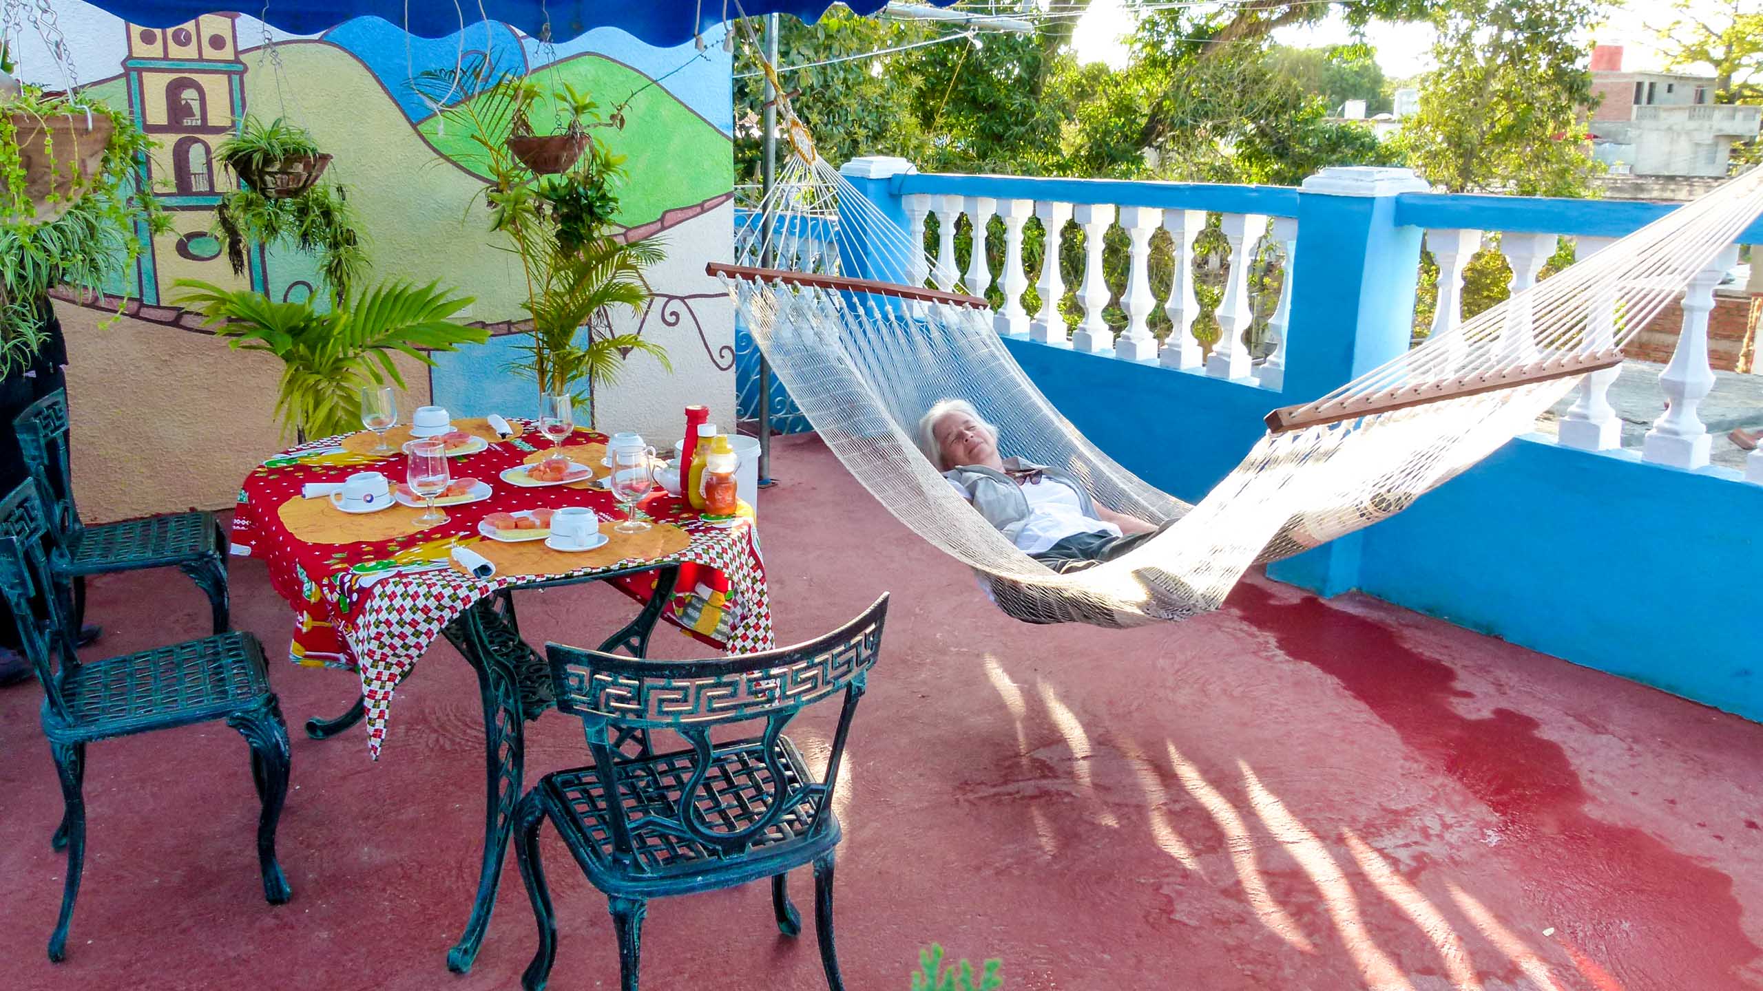
[[[146, 178], [175, 219], [171, 233], [150, 238], [152, 250], [130, 279], [113, 287], [130, 298], [122, 321], [99, 328], [100, 310], [58, 303], [71, 351], [74, 473], [88, 518], [231, 506], [240, 478], [284, 446], [270, 418], [273, 361], [261, 367], [263, 356], [231, 351], [167, 303], [176, 279], [250, 286], [277, 300], [323, 296], [312, 257], [277, 245], [234, 275], [213, 235], [215, 206], [234, 182], [217, 168], [213, 148], [245, 115], [286, 116], [335, 155], [326, 178], [347, 189], [360, 213], [372, 279], [441, 280], [476, 296], [462, 316], [494, 337], [439, 354], [432, 372], [411, 381], [404, 414], [430, 399], [464, 416], [538, 413], [538, 388], [508, 370], [522, 337], [520, 266], [485, 229], [485, 178], [472, 168], [469, 138], [411, 85], [427, 71], [474, 58], [532, 76], [547, 92], [569, 83], [603, 111], [621, 108], [622, 127], [594, 132], [626, 155], [617, 222], [624, 236], [658, 236], [666, 261], [647, 272], [651, 305], [621, 314], [614, 328], [661, 342], [673, 372], [633, 356], [598, 397], [599, 427], [635, 428], [663, 446], [677, 439], [686, 402], [703, 402], [718, 423], [733, 423], [733, 312], [703, 275], [707, 261], [730, 257], [733, 231], [730, 56], [719, 37], [700, 51], [654, 48], [601, 28], [541, 44], [483, 21], [421, 39], [379, 18], [291, 37], [243, 14], [215, 12], [160, 30], [79, 0], [58, 0], [56, 11], [81, 88], [127, 106], [157, 141]], [[65, 85], [35, 37], [25, 39], [19, 63], [28, 81]], [[538, 127], [545, 130], [543, 122]], [[157, 451], [152, 464], [176, 467], [143, 471], [139, 451]]]

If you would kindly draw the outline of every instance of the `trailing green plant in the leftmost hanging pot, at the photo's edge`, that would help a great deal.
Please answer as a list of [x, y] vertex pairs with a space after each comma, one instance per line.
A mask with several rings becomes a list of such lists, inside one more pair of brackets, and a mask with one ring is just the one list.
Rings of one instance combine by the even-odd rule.
[[[85, 129], [88, 115], [93, 122], [88, 134], [109, 129], [102, 159], [90, 175], [58, 160], [67, 148], [56, 150], [55, 132], [56, 120]], [[44, 130], [48, 192], [28, 189], [21, 122], [28, 130]], [[0, 102], [0, 374], [26, 365], [48, 339], [49, 289], [67, 286], [92, 296], [123, 296], [118, 289], [141, 256], [141, 231], [171, 227], [159, 201], [136, 182], [136, 162], [148, 148], [152, 141], [127, 113], [86, 93], [48, 95], [23, 86], [18, 97]]]

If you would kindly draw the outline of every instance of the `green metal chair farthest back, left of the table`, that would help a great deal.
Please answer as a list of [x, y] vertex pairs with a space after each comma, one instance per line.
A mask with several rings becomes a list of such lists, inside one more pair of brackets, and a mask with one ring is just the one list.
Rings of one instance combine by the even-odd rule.
[[25, 464], [42, 481], [51, 503], [51, 559], [56, 571], [72, 578], [76, 624], [86, 615], [86, 577], [176, 566], [208, 596], [215, 633], [227, 631], [227, 536], [213, 513], [164, 513], [88, 527], [74, 504], [67, 393], [56, 390], [30, 404], [12, 427]]

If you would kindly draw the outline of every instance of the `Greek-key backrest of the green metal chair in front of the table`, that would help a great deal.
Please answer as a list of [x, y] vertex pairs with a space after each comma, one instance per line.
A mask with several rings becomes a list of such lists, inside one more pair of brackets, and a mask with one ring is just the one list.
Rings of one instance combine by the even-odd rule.
[[[631, 855], [631, 825], [614, 811], [615, 797], [624, 794], [615, 741], [629, 732], [647, 735], [649, 730], [672, 730], [693, 749], [686, 785], [673, 802], [672, 818], [658, 822], [661, 829], [691, 836], [725, 855], [740, 853], [762, 839], [786, 811], [809, 802], [813, 813], [802, 836], [818, 834], [830, 822], [844, 739], [857, 700], [867, 688], [869, 668], [882, 651], [885, 617], [887, 594], [857, 619], [806, 644], [705, 661], [649, 661], [547, 644], [557, 709], [582, 719], [594, 769], [605, 783], [605, 794], [614, 797], [608, 808], [612, 815], [606, 818], [615, 852], [621, 857]], [[841, 691], [844, 705], [827, 756], [825, 779], [792, 785], [777, 762], [777, 737], [797, 712]], [[763, 802], [767, 811], [742, 829], [714, 829], [700, 802], [705, 776], [718, 755], [710, 730], [758, 719], [765, 723], [760, 741], [772, 788], [769, 795], [751, 799], [753, 806]]]

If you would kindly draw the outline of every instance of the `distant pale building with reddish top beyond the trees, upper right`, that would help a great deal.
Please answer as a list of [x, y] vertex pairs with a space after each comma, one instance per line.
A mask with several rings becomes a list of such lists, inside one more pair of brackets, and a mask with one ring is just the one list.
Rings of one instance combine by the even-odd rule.
[[1611, 173], [1724, 176], [1735, 141], [1758, 136], [1763, 106], [1714, 102], [1714, 76], [1624, 72], [1622, 46], [1592, 51], [1592, 155]]

